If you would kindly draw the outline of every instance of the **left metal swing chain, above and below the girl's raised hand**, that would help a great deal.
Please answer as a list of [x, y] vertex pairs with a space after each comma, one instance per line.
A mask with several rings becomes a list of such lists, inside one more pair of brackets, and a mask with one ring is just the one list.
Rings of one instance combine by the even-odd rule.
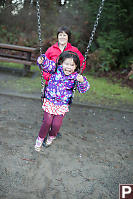
[[[41, 35], [41, 22], [40, 22], [40, 3], [39, 0], [36, 1], [37, 8], [37, 24], [38, 24], [38, 39], [40, 46], [40, 55], [42, 55], [42, 35]], [[41, 98], [44, 96], [44, 81], [43, 81], [43, 71], [41, 70]]]

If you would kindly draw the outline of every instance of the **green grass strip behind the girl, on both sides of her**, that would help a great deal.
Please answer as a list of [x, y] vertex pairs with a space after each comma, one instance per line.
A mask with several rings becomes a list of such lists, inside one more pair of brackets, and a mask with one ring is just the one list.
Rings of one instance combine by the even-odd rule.
[[[7, 65], [7, 64], [6, 64]], [[9, 64], [9, 67], [23, 67], [20, 64]], [[37, 66], [31, 66], [31, 71], [38, 72]], [[75, 93], [75, 100], [79, 102], [104, 104], [104, 105], [117, 105], [131, 104], [133, 105], [133, 90], [128, 87], [122, 87], [120, 83], [112, 83], [105, 78], [96, 78], [91, 75], [85, 74], [91, 87], [85, 94]], [[38, 74], [36, 77], [17, 77], [14, 80], [1, 82], [1, 87], [4, 89], [12, 89], [20, 93], [40, 93], [41, 78]]]

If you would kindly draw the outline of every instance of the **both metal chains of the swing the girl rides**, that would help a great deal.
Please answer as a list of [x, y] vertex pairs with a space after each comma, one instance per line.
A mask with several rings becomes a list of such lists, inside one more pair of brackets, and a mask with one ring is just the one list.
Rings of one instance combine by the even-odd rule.
[[[105, 0], [101, 0], [101, 4], [100, 4], [99, 10], [98, 10], [96, 21], [94, 23], [93, 30], [91, 32], [91, 36], [90, 36], [90, 39], [89, 39], [89, 42], [88, 42], [88, 46], [86, 48], [84, 60], [83, 60], [82, 66], [80, 67], [80, 73], [79, 74], [82, 73], [84, 64], [85, 64], [85, 62], [87, 60], [88, 52], [90, 50], [92, 41], [94, 39], [96, 28], [98, 26], [98, 22], [99, 22], [99, 19], [100, 19], [102, 10], [103, 10], [104, 1]], [[64, 5], [64, 3], [65, 3], [65, 0], [61, 0], [61, 5]], [[42, 48], [41, 48], [41, 46], [42, 46], [42, 40], [41, 40], [40, 3], [39, 3], [39, 0], [36, 1], [36, 8], [37, 8], [38, 39], [39, 39], [40, 55], [41, 55], [42, 54]], [[75, 91], [76, 91], [76, 83], [75, 83], [75, 86], [73, 88], [72, 99], [74, 98]], [[42, 100], [43, 96], [44, 96], [44, 81], [43, 81], [43, 71], [41, 70], [41, 100]], [[71, 103], [72, 103], [72, 99], [71, 99]]]

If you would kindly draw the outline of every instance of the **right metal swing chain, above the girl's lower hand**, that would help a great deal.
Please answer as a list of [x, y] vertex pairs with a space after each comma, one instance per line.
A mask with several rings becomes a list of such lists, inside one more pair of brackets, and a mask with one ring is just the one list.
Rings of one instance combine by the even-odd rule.
[[100, 19], [100, 16], [101, 16], [101, 13], [102, 13], [102, 10], [103, 10], [104, 1], [105, 1], [105, 0], [102, 0], [102, 1], [101, 1], [101, 5], [100, 5], [99, 10], [98, 10], [98, 14], [97, 14], [97, 17], [96, 17], [96, 21], [95, 21], [95, 23], [94, 23], [94, 27], [93, 27], [93, 30], [92, 30], [92, 32], [91, 32], [91, 37], [90, 37], [88, 46], [87, 46], [87, 48], [86, 48], [85, 58], [84, 58], [84, 60], [83, 60], [82, 66], [81, 66], [80, 73], [82, 72], [83, 66], [84, 66], [84, 64], [85, 64], [85, 62], [86, 62], [86, 59], [87, 59], [87, 57], [88, 57], [88, 52], [89, 52], [89, 50], [90, 50], [92, 41], [93, 41], [93, 39], [94, 39], [94, 35], [95, 35], [96, 29], [97, 29], [97, 26], [98, 26], [98, 21], [99, 21], [99, 19]]

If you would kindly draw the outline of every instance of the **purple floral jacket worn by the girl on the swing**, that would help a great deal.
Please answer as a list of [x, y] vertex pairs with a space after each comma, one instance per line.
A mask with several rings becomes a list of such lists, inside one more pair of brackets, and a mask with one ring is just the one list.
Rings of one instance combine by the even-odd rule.
[[[75, 81], [77, 81], [78, 73], [74, 72], [67, 76], [64, 74], [63, 67], [61, 65], [59, 65], [56, 70], [55, 62], [49, 60], [45, 54], [42, 56], [44, 58], [43, 63], [39, 64], [37, 60], [37, 65], [41, 70], [52, 74], [45, 90], [45, 98], [55, 105], [69, 104], [73, 88], [75, 86]], [[83, 78], [83, 83], [77, 81], [77, 90], [80, 93], [85, 93], [90, 88], [86, 77]]]

